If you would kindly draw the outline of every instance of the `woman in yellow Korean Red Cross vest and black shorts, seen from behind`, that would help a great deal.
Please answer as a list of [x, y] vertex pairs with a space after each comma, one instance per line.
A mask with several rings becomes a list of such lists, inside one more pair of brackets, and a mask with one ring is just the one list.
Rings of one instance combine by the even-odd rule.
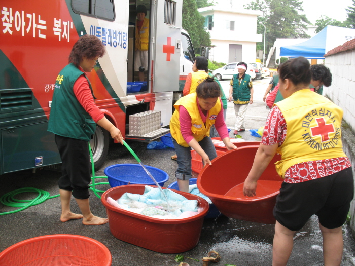
[[295, 231], [313, 215], [323, 235], [325, 265], [340, 265], [341, 226], [353, 198], [353, 176], [343, 152], [343, 111], [326, 97], [309, 90], [310, 65], [304, 57], [279, 69], [282, 101], [266, 120], [253, 167], [244, 182], [245, 196], [257, 195], [257, 180], [275, 153], [281, 155], [276, 171], [284, 179], [273, 210], [276, 218], [272, 265], [286, 265]]

